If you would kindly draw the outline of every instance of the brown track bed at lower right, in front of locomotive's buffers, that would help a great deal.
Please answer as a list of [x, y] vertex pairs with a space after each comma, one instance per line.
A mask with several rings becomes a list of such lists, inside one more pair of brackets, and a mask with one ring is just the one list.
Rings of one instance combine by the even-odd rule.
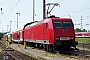
[[71, 50], [68, 52], [65, 52], [61, 54], [65, 58], [68, 57], [70, 60], [76, 59], [76, 60], [90, 60], [90, 52], [82, 51], [82, 50]]

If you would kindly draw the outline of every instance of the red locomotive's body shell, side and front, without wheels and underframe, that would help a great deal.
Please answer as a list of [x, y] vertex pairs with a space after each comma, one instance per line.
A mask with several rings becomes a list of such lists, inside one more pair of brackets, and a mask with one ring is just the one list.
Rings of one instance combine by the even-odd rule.
[[75, 41], [75, 31], [70, 18], [48, 18], [27, 25], [24, 40], [34, 43], [51, 44]]

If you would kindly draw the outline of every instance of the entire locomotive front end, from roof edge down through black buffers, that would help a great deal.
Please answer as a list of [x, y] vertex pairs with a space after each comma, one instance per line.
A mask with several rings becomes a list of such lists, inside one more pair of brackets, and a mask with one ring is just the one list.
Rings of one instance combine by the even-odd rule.
[[[70, 47], [76, 48], [78, 42], [75, 41], [74, 24], [70, 18], [52, 19], [54, 34], [54, 49], [67, 50]], [[51, 41], [53, 41], [51, 40]]]

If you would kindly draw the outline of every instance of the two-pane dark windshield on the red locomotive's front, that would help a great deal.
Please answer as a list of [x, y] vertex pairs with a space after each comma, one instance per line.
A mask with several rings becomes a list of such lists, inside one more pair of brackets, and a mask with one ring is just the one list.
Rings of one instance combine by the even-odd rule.
[[73, 28], [72, 22], [53, 22], [54, 28]]

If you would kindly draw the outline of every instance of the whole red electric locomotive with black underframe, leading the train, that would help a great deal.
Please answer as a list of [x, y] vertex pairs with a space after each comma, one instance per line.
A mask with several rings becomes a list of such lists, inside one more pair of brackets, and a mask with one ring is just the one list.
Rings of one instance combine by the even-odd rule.
[[76, 47], [74, 24], [71, 18], [49, 17], [28, 23], [23, 28], [23, 40], [48, 51], [65, 51]]

